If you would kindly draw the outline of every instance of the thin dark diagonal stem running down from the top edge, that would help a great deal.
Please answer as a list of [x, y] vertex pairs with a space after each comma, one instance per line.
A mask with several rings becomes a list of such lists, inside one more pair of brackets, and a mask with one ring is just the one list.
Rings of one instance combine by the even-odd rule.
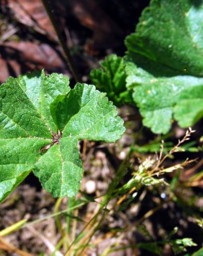
[[75, 79], [76, 82], [80, 82], [80, 78], [79, 78], [79, 75], [78, 75], [78, 72], [76, 70], [76, 67], [74, 65], [74, 61], [73, 61], [73, 58], [70, 54], [70, 51], [68, 49], [68, 46], [64, 40], [64, 37], [62, 36], [62, 33], [61, 33], [61, 30], [59, 29], [58, 27], [58, 24], [55, 20], [55, 17], [54, 17], [54, 9], [52, 8], [52, 5], [51, 5], [51, 1], [50, 0], [42, 0], [42, 4], [46, 10], [46, 13], [47, 15], [49, 16], [50, 18], [50, 21], [52, 23], [52, 26], [54, 27], [54, 30], [57, 34], [57, 37], [58, 37], [58, 41], [59, 41], [59, 44], [61, 45], [63, 51], [64, 51], [64, 54], [65, 54], [65, 57], [66, 57], [66, 61], [68, 63], [68, 66], [70, 68], [70, 71], [71, 73], [73, 74], [73, 77]]

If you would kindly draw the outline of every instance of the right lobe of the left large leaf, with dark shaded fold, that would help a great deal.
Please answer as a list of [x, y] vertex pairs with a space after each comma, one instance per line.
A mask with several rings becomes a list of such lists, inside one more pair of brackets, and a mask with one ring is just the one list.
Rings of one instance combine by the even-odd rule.
[[55, 111], [64, 137], [115, 142], [125, 131], [115, 106], [93, 85], [76, 84]]

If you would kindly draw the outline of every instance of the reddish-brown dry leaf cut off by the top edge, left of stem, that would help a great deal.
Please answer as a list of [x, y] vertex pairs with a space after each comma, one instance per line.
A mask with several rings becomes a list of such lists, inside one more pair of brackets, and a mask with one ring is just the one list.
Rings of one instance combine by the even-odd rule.
[[41, 0], [7, 0], [7, 5], [19, 22], [57, 41], [54, 28]]

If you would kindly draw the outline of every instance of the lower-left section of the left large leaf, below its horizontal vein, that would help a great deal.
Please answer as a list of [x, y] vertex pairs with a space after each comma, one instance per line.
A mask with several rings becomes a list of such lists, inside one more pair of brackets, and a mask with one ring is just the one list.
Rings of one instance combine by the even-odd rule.
[[51, 139], [37, 137], [0, 139], [0, 202], [26, 178], [40, 158], [40, 148], [49, 143]]

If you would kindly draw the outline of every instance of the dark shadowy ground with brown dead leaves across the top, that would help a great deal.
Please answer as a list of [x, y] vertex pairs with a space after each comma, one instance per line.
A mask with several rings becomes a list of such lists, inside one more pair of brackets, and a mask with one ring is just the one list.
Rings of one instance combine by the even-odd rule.
[[[81, 80], [110, 53], [124, 55], [124, 39], [149, 1], [51, 1]], [[70, 75], [40, 0], [2, 0], [0, 82], [34, 69]]]

